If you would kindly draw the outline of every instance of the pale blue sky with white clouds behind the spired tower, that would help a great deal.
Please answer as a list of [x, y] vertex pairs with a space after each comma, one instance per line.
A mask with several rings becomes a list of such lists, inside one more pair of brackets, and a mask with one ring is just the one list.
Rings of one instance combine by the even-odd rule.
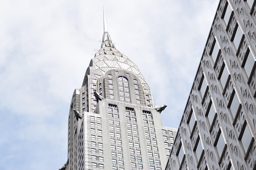
[[9, 0], [0, 5], [0, 169], [59, 169], [68, 113], [108, 32], [178, 128], [217, 0]]

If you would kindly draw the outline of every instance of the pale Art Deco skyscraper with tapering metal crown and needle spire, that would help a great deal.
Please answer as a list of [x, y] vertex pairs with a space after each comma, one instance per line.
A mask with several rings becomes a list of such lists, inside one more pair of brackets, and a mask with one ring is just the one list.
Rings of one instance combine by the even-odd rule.
[[138, 67], [112, 43], [104, 14], [99, 52], [75, 89], [68, 118], [68, 160], [60, 169], [164, 169], [177, 129], [162, 125]]

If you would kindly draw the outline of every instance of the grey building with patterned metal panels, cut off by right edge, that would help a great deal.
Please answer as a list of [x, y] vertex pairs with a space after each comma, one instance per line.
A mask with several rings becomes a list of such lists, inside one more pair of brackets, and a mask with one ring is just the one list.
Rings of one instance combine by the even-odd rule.
[[221, 0], [169, 169], [255, 169], [256, 7]]

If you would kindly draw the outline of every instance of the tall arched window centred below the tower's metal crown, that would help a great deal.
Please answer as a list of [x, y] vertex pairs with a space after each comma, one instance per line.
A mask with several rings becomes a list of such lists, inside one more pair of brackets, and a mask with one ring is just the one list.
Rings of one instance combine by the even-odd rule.
[[125, 77], [118, 77], [118, 89], [120, 101], [131, 103], [130, 89], [128, 80]]

